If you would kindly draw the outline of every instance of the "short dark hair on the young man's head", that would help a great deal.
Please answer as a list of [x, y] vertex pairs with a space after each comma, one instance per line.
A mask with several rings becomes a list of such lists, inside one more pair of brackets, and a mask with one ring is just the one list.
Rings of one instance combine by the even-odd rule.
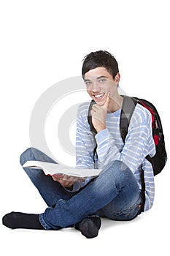
[[119, 72], [115, 57], [107, 52], [107, 50], [98, 50], [85, 56], [82, 64], [82, 78], [84, 79], [85, 73], [90, 69], [95, 69], [96, 67], [105, 67], [113, 79], [115, 79], [117, 72]]

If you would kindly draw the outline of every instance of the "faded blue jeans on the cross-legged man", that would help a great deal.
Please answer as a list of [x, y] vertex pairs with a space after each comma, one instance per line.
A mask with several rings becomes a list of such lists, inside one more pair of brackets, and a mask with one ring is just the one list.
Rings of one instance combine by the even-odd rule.
[[[55, 162], [36, 148], [28, 148], [21, 154], [21, 165], [28, 160]], [[121, 170], [121, 165], [120, 161], [113, 162], [78, 192], [66, 191], [42, 170], [24, 167], [48, 206], [39, 214], [41, 225], [47, 230], [58, 230], [72, 227], [93, 214], [114, 220], [134, 219], [140, 214], [141, 193], [131, 170], [128, 167]]]

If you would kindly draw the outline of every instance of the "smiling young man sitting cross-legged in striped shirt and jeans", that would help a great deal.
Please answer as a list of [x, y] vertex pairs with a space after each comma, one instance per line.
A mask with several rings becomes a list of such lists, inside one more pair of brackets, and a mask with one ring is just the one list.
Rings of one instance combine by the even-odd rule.
[[[42, 170], [24, 167], [31, 181], [47, 203], [42, 214], [12, 212], [3, 218], [10, 228], [58, 230], [75, 227], [82, 235], [93, 238], [101, 227], [100, 217], [131, 220], [141, 213], [144, 170], [144, 211], [152, 207], [154, 179], [152, 165], [145, 159], [155, 154], [150, 112], [136, 105], [125, 143], [120, 135], [120, 112], [123, 98], [117, 87], [120, 74], [117, 61], [107, 51], [99, 50], [85, 57], [82, 78], [95, 103], [91, 110], [94, 138], [88, 124], [90, 102], [80, 105], [77, 115], [77, 167], [93, 168], [93, 148], [97, 146], [95, 167], [102, 168], [96, 178], [75, 181], [73, 177], [45, 176]], [[36, 148], [28, 148], [20, 157], [27, 160], [54, 162]]]

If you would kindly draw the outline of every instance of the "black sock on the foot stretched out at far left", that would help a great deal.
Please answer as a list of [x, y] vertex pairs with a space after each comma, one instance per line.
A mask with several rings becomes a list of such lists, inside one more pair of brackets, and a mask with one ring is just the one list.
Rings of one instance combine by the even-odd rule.
[[12, 211], [2, 218], [2, 223], [9, 228], [44, 229], [39, 222], [39, 214], [23, 214], [21, 212]]

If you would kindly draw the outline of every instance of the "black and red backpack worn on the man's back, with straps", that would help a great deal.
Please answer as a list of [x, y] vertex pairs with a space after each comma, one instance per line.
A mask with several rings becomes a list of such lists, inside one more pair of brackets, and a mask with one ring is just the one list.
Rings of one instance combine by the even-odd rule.
[[[146, 99], [139, 99], [137, 97], [128, 97], [124, 95], [121, 96], [123, 97], [123, 107], [120, 114], [120, 134], [123, 139], [123, 142], [125, 142], [125, 137], [128, 134], [128, 126], [130, 124], [131, 116], [134, 113], [134, 108], [136, 107], [136, 104], [138, 103], [142, 105], [144, 108], [147, 108], [147, 110], [149, 110], [151, 113], [152, 137], [155, 142], [156, 153], [154, 157], [150, 157], [148, 155], [146, 159], [152, 164], [152, 169], [155, 176], [158, 173], [161, 173], [161, 170], [163, 170], [163, 167], [166, 165], [167, 160], [161, 118], [155, 106], [152, 105], [151, 102], [148, 102]], [[96, 104], [94, 100], [90, 102], [90, 106], [88, 109], [88, 123], [90, 124], [90, 130], [96, 134], [96, 129], [93, 127], [92, 117], [90, 115], [90, 110], [93, 104]], [[96, 148], [94, 149], [94, 151], [96, 151]], [[93, 152], [93, 155], [94, 154], [95, 152]]]

